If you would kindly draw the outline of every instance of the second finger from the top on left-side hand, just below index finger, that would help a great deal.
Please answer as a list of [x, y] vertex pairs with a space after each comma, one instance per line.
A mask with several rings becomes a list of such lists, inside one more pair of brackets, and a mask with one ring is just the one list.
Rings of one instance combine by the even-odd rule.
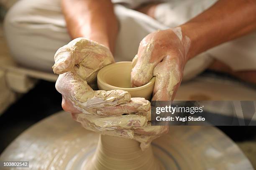
[[150, 102], [144, 98], [135, 97], [131, 98], [131, 101], [123, 104], [119, 104], [113, 107], [102, 107], [96, 108], [96, 111], [93, 112], [99, 116], [113, 116], [113, 115], [122, 115], [122, 114], [142, 114], [148, 117], [150, 113], [151, 106]]

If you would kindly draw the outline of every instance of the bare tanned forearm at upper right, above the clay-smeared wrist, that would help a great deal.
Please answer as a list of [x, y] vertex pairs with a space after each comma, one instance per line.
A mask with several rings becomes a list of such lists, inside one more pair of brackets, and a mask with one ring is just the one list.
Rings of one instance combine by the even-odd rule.
[[256, 30], [256, 0], [219, 0], [208, 10], [181, 25], [191, 40], [188, 59]]

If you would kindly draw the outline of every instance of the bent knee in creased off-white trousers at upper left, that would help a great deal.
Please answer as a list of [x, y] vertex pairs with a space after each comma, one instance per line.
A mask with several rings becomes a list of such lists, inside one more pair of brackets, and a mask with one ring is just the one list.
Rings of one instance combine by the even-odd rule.
[[8, 11], [4, 30], [15, 61], [42, 71], [52, 72], [54, 53], [70, 41], [59, 0], [20, 0]]

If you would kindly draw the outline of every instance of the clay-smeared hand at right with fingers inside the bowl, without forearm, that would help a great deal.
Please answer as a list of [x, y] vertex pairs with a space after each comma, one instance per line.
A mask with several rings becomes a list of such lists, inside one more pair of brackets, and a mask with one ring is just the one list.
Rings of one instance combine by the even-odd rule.
[[189, 38], [179, 27], [148, 34], [133, 59], [133, 87], [147, 84], [156, 76], [152, 100], [173, 100], [182, 81], [189, 46]]

